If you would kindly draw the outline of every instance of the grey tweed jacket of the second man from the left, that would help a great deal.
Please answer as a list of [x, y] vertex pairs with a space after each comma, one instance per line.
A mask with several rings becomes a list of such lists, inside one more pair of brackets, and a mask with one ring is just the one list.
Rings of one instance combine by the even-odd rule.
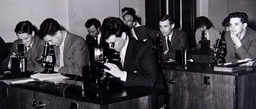
[[[60, 47], [54, 46], [54, 52], [55, 66], [60, 66]], [[85, 40], [67, 31], [63, 50], [64, 66], [59, 69], [58, 73], [82, 75], [82, 66], [86, 65], [89, 60], [89, 50]]]

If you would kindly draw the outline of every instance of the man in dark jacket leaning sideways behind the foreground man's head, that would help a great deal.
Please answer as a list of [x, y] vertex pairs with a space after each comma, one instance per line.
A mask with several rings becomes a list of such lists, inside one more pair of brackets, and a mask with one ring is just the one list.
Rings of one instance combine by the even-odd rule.
[[132, 11], [128, 11], [124, 14], [123, 21], [125, 24], [125, 28], [128, 32], [128, 36], [135, 37], [136, 40], [141, 40], [149, 44], [151, 47], [153, 46], [153, 42], [157, 33], [156, 30], [149, 29], [145, 25], [140, 27], [133, 27], [136, 24], [136, 16]]

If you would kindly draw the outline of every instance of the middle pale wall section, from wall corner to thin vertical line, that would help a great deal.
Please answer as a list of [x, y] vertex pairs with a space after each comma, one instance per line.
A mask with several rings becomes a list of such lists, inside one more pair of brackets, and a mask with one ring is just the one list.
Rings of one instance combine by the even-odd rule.
[[96, 18], [101, 24], [109, 16], [119, 17], [118, 0], [68, 0], [69, 32], [86, 38], [88, 34], [84, 24]]

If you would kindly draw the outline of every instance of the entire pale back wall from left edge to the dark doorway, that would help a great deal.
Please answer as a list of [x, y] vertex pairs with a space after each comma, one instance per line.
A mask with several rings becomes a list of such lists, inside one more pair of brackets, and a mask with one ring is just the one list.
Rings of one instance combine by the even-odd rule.
[[14, 29], [20, 21], [29, 20], [39, 29], [46, 18], [53, 18], [71, 33], [88, 34], [88, 19], [102, 21], [109, 16], [120, 17], [121, 9], [132, 7], [145, 25], [145, 0], [0, 0], [0, 36], [6, 43], [18, 39]]

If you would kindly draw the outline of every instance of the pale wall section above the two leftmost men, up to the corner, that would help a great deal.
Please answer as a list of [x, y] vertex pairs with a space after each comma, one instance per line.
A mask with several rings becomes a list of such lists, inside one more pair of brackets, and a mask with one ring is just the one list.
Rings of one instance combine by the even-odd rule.
[[67, 0], [1, 0], [0, 36], [7, 42], [18, 39], [14, 29], [29, 20], [37, 29], [46, 18], [53, 18], [67, 28]]

